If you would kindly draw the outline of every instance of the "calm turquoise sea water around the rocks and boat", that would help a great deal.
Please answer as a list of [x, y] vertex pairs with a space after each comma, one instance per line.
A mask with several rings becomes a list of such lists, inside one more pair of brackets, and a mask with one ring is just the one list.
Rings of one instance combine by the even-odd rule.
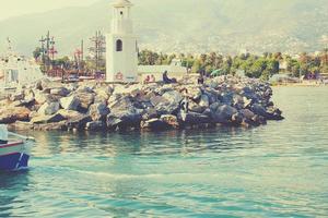
[[0, 174], [0, 217], [327, 217], [328, 87], [274, 88], [257, 129], [31, 132], [27, 172]]

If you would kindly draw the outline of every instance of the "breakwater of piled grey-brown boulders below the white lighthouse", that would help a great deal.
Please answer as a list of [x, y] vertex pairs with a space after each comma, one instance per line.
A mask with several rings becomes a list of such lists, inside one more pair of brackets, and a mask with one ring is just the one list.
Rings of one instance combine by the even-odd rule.
[[0, 123], [32, 130], [165, 130], [258, 126], [282, 120], [272, 89], [257, 80], [221, 76], [203, 85], [60, 84], [40, 81], [0, 101]]

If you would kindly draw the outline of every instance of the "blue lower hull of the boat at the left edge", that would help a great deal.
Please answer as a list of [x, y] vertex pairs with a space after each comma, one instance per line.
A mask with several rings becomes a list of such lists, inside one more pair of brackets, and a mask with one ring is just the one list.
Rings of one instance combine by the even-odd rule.
[[26, 169], [30, 156], [22, 153], [0, 156], [0, 171], [13, 171]]

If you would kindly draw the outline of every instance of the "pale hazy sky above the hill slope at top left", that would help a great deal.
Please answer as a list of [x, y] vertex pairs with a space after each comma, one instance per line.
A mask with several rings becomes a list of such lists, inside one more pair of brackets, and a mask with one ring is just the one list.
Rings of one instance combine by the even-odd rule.
[[0, 20], [54, 9], [87, 5], [98, 0], [0, 0]]

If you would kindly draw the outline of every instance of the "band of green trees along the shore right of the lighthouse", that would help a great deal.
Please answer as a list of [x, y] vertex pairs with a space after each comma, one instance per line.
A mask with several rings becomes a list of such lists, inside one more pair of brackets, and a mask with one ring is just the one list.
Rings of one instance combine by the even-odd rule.
[[223, 56], [216, 52], [194, 55], [166, 55], [151, 50], [142, 50], [139, 53], [139, 64], [169, 64], [173, 59], [181, 60], [181, 65], [191, 73], [206, 75], [227, 75], [243, 72], [248, 77], [269, 80], [281, 70], [291, 76], [304, 76], [309, 74], [328, 73], [328, 49], [320, 53], [309, 55], [306, 52], [292, 57], [281, 52], [266, 52], [261, 56], [242, 53], [238, 56]]

